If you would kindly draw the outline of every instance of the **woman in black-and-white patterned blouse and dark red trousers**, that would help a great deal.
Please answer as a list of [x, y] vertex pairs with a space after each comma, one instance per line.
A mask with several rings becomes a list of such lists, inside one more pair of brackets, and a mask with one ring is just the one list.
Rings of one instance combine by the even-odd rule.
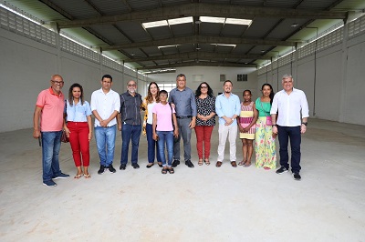
[[[198, 165], [203, 165], [203, 160], [207, 166], [211, 163], [209, 156], [211, 153], [211, 136], [215, 126], [215, 97], [212, 88], [206, 83], [201, 83], [195, 91], [196, 100], [196, 149], [198, 150]], [[204, 145], [204, 157], [203, 157]]]

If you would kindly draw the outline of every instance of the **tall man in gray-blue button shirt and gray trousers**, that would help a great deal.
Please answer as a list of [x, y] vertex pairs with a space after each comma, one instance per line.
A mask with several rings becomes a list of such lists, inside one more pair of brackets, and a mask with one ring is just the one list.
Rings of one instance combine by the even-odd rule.
[[180, 164], [180, 139], [183, 136], [183, 158], [185, 165], [193, 168], [192, 146], [190, 139], [192, 129], [195, 127], [196, 103], [193, 90], [186, 87], [186, 76], [179, 74], [176, 76], [176, 88], [170, 92], [169, 102], [175, 106], [177, 125], [179, 126], [179, 136], [173, 142], [173, 162], [172, 167]]

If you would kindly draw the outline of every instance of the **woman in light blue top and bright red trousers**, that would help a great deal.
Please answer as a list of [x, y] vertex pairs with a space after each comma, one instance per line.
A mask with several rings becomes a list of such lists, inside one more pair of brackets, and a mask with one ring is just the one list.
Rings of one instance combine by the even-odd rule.
[[[91, 108], [84, 99], [82, 86], [78, 83], [69, 87], [65, 107], [67, 125], [64, 126], [64, 129], [69, 138], [75, 165], [78, 168], [78, 173], [74, 178], [79, 179], [81, 176], [89, 178], [91, 177], [88, 171], [90, 163], [89, 142], [92, 137]], [[84, 170], [82, 170], [81, 165], [84, 166]]]

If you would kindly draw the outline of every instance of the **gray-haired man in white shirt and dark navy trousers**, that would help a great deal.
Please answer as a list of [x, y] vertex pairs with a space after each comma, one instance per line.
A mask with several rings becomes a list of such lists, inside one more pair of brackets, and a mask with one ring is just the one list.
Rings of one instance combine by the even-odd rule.
[[[287, 143], [290, 138], [291, 171], [295, 180], [300, 180], [300, 143], [301, 134], [306, 133], [308, 125], [308, 101], [302, 90], [293, 87], [293, 76], [284, 75], [281, 81], [284, 89], [277, 92], [271, 106], [273, 133], [279, 139], [280, 168], [277, 174], [289, 169]], [[277, 121], [276, 113], [278, 112]]]

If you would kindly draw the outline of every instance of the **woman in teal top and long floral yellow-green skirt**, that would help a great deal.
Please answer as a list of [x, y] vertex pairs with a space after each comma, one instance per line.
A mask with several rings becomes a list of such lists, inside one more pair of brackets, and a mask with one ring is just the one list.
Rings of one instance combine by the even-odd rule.
[[274, 92], [273, 87], [269, 84], [264, 84], [261, 90], [263, 96], [258, 97], [255, 101], [258, 111], [255, 131], [256, 167], [264, 167], [269, 170], [276, 168], [276, 136], [273, 136], [270, 116]]

